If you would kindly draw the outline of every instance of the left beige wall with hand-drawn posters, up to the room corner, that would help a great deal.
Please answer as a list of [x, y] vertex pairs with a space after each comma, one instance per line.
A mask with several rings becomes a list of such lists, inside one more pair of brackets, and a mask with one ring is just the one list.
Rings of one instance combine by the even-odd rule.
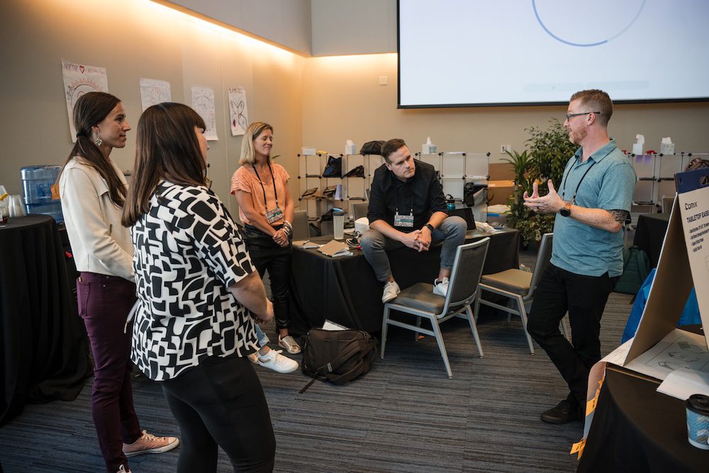
[[[126, 147], [111, 154], [121, 169], [133, 167], [140, 77], [170, 82], [172, 100], [186, 104], [192, 85], [213, 88], [219, 140], [209, 142], [209, 173], [234, 214], [228, 189], [241, 137], [228, 126], [228, 87], [245, 87], [250, 120], [275, 127], [274, 154], [301, 146], [299, 55], [147, 0], [94, 0], [90, 8], [76, 0], [4, 0], [0, 18], [0, 183], [13, 194], [21, 191], [20, 167], [62, 165], [72, 148], [62, 59], [106, 68], [108, 90], [133, 126]], [[284, 165], [297, 175], [295, 158]]]

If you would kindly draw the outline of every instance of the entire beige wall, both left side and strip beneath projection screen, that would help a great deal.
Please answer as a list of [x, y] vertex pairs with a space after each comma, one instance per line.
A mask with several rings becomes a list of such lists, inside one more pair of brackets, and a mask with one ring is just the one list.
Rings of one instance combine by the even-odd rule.
[[[241, 138], [228, 128], [228, 87], [245, 87], [250, 119], [275, 127], [274, 154], [294, 178], [301, 146], [340, 153], [347, 139], [361, 146], [401, 137], [416, 151], [430, 136], [439, 150], [491, 151], [495, 162], [503, 157], [501, 144], [522, 150], [525, 128], [546, 126], [565, 111], [400, 110], [396, 54], [302, 57], [148, 0], [94, 0], [91, 8], [78, 0], [4, 0], [0, 44], [0, 183], [13, 194], [21, 190], [20, 167], [60, 165], [72, 147], [62, 59], [106, 67], [109, 91], [123, 100], [133, 126], [141, 113], [140, 77], [169, 81], [172, 99], [188, 104], [192, 85], [212, 87], [220, 139], [210, 142], [210, 174], [233, 213], [228, 187]], [[379, 85], [379, 77], [389, 84]], [[708, 124], [707, 103], [626, 105], [616, 107], [610, 131], [621, 148], [630, 148], [642, 133], [646, 149], [659, 149], [660, 138], [671, 136], [679, 151], [708, 152]], [[134, 133], [112, 155], [123, 169], [133, 166]], [[297, 198], [298, 179], [291, 180], [291, 193]]]

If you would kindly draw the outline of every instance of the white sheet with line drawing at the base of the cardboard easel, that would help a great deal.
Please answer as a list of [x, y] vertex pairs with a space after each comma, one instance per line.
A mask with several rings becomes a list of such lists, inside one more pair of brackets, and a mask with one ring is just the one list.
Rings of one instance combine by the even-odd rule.
[[657, 379], [666, 379], [668, 374], [680, 368], [707, 373], [709, 351], [703, 335], [675, 328], [654, 347], [624, 366]]

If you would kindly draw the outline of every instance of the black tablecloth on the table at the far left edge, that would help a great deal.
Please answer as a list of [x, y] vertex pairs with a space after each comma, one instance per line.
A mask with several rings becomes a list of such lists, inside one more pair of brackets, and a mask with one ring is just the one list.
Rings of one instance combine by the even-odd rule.
[[74, 399], [91, 365], [50, 216], [0, 226], [0, 425], [26, 402]]

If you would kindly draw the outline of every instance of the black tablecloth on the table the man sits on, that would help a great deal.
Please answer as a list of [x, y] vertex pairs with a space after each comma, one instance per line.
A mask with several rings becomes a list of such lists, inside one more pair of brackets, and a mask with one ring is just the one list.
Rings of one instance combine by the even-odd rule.
[[[519, 233], [505, 230], [493, 235], [478, 234], [467, 243], [490, 236], [484, 274], [519, 266]], [[312, 238], [326, 243], [330, 237]], [[377, 332], [381, 330], [384, 304], [383, 284], [360, 250], [354, 255], [331, 258], [318, 250], [294, 247], [291, 274], [291, 332], [306, 333], [323, 325], [325, 318], [349, 328]], [[401, 289], [417, 282], [430, 282], [438, 276], [440, 245], [428, 252], [401, 248], [389, 252], [394, 279]]]

